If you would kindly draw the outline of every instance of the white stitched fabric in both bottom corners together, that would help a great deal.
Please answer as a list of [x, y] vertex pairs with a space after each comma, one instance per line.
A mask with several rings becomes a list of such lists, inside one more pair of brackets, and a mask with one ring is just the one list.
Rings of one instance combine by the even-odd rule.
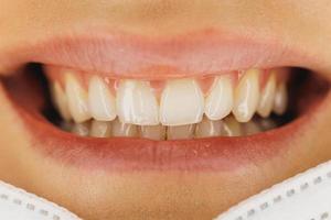
[[[0, 182], [2, 220], [79, 220], [66, 209]], [[277, 184], [216, 220], [331, 220], [331, 161]]]

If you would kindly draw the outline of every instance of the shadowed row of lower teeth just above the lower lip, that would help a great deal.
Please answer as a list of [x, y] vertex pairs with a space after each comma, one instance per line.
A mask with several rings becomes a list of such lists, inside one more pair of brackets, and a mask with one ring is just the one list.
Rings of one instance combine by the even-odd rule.
[[63, 122], [61, 128], [81, 136], [93, 138], [145, 138], [150, 140], [183, 140], [211, 136], [244, 136], [275, 129], [273, 119], [254, 118], [247, 123], [239, 123], [233, 116], [212, 121], [204, 118], [197, 124], [178, 127], [125, 124], [118, 119], [106, 122], [90, 120], [84, 123]]

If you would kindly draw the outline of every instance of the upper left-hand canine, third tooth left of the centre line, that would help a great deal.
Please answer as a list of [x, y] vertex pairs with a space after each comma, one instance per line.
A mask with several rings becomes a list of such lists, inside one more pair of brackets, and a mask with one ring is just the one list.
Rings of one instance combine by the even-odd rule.
[[78, 123], [90, 119], [87, 92], [82, 88], [78, 80], [71, 74], [66, 75], [65, 91], [68, 101], [68, 109], [73, 119]]

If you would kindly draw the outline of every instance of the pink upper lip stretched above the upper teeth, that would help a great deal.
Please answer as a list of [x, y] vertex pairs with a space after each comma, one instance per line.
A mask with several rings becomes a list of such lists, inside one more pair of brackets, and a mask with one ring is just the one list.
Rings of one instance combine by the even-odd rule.
[[202, 30], [172, 37], [95, 32], [45, 36], [0, 52], [0, 73], [26, 63], [98, 72], [111, 77], [168, 79], [250, 67], [298, 66], [321, 72], [313, 53], [278, 38]]

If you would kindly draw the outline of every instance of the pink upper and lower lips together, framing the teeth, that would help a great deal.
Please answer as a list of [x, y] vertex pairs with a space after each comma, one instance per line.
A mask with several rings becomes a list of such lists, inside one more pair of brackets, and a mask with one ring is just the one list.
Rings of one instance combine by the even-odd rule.
[[[0, 54], [3, 73], [30, 62], [100, 72], [114, 77], [149, 79], [200, 76], [248, 67], [319, 68], [316, 58], [275, 40], [258, 41], [211, 30], [157, 40], [126, 34], [53, 36], [42, 43], [18, 47], [7, 55]], [[20, 101], [13, 101], [12, 92], [8, 92], [8, 99], [38, 152], [63, 163], [107, 170], [228, 170], [266, 161], [287, 151], [290, 142], [299, 140], [300, 135], [308, 134], [313, 114], [325, 103], [317, 99], [310, 105], [313, 108], [307, 109], [293, 122], [252, 136], [149, 141], [75, 136], [52, 125], [40, 116], [40, 109], [31, 108], [31, 103], [26, 103], [30, 105], [28, 108], [23, 102], [17, 105]], [[330, 96], [322, 100], [329, 99]]]

